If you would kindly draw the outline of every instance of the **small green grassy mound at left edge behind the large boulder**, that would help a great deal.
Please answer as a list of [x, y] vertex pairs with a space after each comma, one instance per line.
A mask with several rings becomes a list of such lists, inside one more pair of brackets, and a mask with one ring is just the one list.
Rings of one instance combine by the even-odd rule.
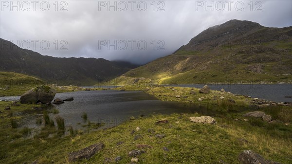
[[42, 80], [20, 73], [0, 72], [0, 96], [21, 95], [45, 84]]

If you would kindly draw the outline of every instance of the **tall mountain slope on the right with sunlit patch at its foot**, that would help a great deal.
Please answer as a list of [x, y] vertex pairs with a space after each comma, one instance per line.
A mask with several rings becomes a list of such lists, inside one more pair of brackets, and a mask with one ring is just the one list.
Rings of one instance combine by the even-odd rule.
[[291, 83], [291, 74], [292, 26], [269, 28], [230, 20], [201, 32], [174, 54], [133, 69], [115, 81], [126, 76], [163, 84]]

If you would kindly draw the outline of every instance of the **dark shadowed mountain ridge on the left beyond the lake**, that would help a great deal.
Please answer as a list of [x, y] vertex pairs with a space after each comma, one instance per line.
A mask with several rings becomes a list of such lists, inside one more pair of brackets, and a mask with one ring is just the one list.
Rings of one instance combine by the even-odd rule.
[[24, 73], [59, 85], [93, 85], [129, 71], [103, 58], [43, 56], [0, 39], [0, 71]]

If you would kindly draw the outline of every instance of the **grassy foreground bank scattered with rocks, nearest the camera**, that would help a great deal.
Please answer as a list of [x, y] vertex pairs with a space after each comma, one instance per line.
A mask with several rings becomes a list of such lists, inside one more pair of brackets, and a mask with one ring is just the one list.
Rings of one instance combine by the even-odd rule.
[[[0, 109], [10, 103], [0, 102]], [[31, 164], [34, 161], [37, 164], [69, 164], [70, 152], [99, 142], [105, 144], [104, 149], [89, 160], [73, 164], [116, 164], [117, 156], [122, 157], [118, 163], [128, 164], [132, 158], [128, 157], [128, 152], [134, 149], [146, 151], [138, 156], [137, 164], [240, 164], [238, 155], [243, 150], [253, 150], [281, 164], [292, 163], [292, 110], [284, 106], [261, 110], [287, 125], [269, 124], [250, 117], [249, 121], [236, 121], [235, 118], [245, 118], [242, 114], [249, 111], [246, 108], [240, 112], [218, 112], [212, 116], [217, 121], [216, 125], [193, 123], [189, 117], [201, 115], [183, 113], [182, 109], [183, 114], [132, 118], [114, 128], [84, 132], [73, 129], [65, 135], [64, 130], [55, 128], [56, 125], [44, 125], [44, 121], [35, 128], [12, 128], [14, 121], [19, 123], [27, 116], [33, 115], [39, 117], [37, 120], [42, 120], [40, 114], [43, 111], [34, 110], [31, 106], [20, 105], [11, 107], [9, 111], [1, 110], [1, 164]], [[19, 115], [19, 111], [28, 114]], [[290, 117], [285, 119], [287, 115]], [[56, 116], [51, 115], [51, 119]], [[160, 119], [166, 119], [169, 123], [155, 125]], [[140, 130], [136, 130], [136, 127]], [[69, 129], [66, 127], [65, 130]], [[157, 138], [157, 134], [164, 134], [165, 137]], [[146, 146], [141, 148], [139, 145]]]

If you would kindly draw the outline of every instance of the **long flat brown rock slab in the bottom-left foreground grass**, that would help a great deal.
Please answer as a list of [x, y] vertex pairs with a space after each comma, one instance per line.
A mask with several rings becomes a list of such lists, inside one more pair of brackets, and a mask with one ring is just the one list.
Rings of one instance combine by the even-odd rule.
[[78, 161], [81, 159], [90, 159], [95, 153], [103, 149], [105, 145], [103, 143], [94, 144], [88, 146], [79, 151], [73, 151], [69, 154], [69, 162]]

